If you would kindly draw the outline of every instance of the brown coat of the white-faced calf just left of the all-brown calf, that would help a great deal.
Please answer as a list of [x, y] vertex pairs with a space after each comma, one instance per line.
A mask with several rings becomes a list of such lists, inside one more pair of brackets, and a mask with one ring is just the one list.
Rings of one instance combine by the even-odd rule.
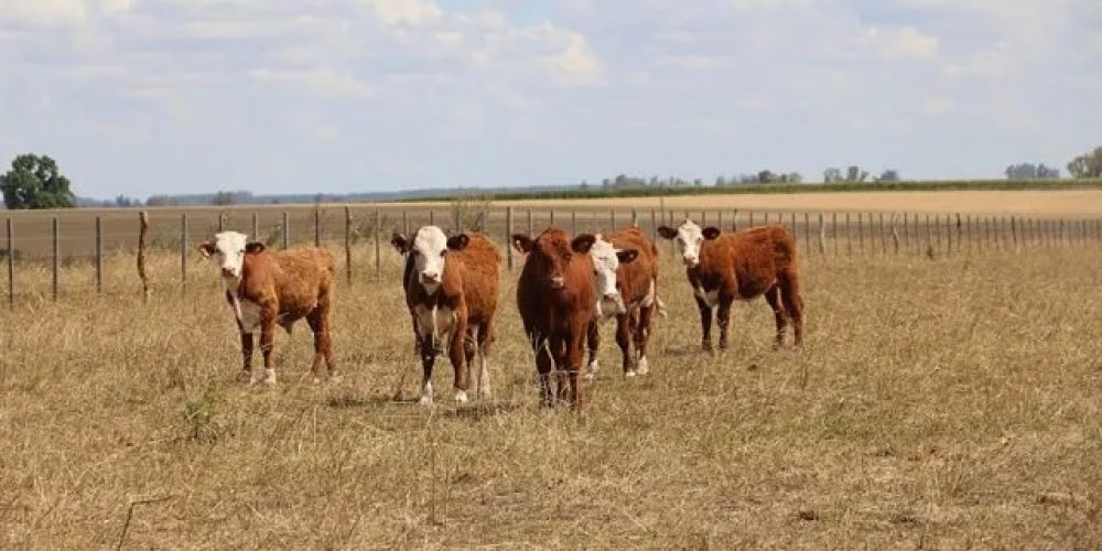
[[[479, 353], [480, 372], [475, 377], [476, 391], [490, 395], [487, 357], [494, 339], [494, 315], [497, 313], [497, 295], [500, 280], [501, 255], [485, 236], [474, 233], [460, 234], [447, 238], [447, 257], [436, 289], [430, 293], [418, 279], [415, 252], [411, 253], [413, 241], [396, 234], [391, 245], [407, 253], [402, 281], [406, 304], [413, 320], [413, 335], [421, 356], [423, 385], [432, 378], [435, 357], [441, 350], [437, 338], [447, 337], [449, 358], [454, 371], [456, 399], [466, 400], [469, 387], [468, 370], [474, 366], [475, 354]], [[431, 316], [446, 312], [452, 323], [446, 335], [422, 335], [419, 316], [429, 316], [425, 326], [431, 326]], [[431, 386], [422, 386], [422, 403], [431, 403]]]

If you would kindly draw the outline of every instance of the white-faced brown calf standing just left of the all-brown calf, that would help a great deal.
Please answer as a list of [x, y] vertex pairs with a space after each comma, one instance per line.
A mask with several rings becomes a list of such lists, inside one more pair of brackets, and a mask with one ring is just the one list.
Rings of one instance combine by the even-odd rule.
[[421, 403], [432, 404], [432, 367], [444, 342], [454, 370], [455, 401], [467, 401], [467, 371], [476, 353], [475, 390], [489, 397], [487, 356], [501, 264], [497, 247], [478, 234], [447, 237], [436, 226], [418, 229], [412, 239], [395, 234], [390, 242], [406, 255], [402, 285], [424, 371]]

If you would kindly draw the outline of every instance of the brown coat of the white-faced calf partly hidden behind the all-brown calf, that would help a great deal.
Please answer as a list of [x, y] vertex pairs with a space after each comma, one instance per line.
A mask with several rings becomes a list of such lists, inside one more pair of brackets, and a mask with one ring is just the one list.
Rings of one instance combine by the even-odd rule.
[[[616, 344], [623, 355], [624, 374], [634, 376], [649, 371], [647, 343], [650, 339], [651, 320], [661, 309], [658, 299], [658, 247], [638, 226], [628, 226], [602, 236], [613, 247], [635, 250], [629, 262], [620, 262], [616, 270], [616, 287], [624, 300], [626, 313], [616, 314]], [[601, 344], [598, 324], [590, 327], [590, 374], [596, 371], [597, 347]], [[631, 344], [635, 344], [635, 359]]]

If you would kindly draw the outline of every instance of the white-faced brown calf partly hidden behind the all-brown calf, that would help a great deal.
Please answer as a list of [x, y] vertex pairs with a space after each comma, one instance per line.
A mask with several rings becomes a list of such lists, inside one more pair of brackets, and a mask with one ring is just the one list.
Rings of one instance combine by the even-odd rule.
[[597, 374], [599, 323], [611, 317], [616, 318], [616, 344], [623, 354], [624, 375], [646, 375], [650, 370], [647, 342], [651, 318], [662, 307], [658, 299], [658, 247], [641, 229], [630, 226], [608, 235], [597, 234], [590, 256], [599, 299], [595, 313], [598, 323], [590, 327], [590, 364], [585, 376], [593, 378]]

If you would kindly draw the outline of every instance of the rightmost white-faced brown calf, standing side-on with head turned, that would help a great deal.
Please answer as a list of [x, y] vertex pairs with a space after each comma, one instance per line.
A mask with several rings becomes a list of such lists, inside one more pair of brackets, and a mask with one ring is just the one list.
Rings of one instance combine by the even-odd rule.
[[703, 329], [701, 343], [712, 349], [712, 311], [720, 325], [720, 348], [727, 347], [731, 305], [735, 299], [765, 295], [777, 322], [777, 346], [791, 321], [796, 346], [803, 343], [803, 298], [796, 262], [796, 239], [785, 226], [757, 226], [723, 234], [687, 219], [679, 228], [658, 228], [672, 239], [696, 299]]

